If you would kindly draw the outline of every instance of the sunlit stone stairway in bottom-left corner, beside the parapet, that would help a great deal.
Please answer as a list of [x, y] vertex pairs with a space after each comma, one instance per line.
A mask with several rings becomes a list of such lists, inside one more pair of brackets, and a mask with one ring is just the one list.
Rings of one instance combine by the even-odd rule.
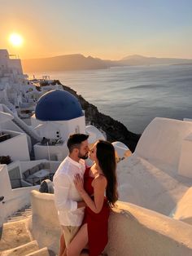
[[28, 228], [30, 206], [18, 210], [0, 229], [0, 256], [54, 256], [46, 247], [39, 248]]

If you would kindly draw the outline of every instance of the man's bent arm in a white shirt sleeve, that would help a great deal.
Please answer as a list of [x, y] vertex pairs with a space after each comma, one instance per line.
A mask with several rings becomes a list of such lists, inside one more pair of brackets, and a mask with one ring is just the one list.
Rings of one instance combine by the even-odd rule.
[[78, 207], [76, 201], [68, 199], [70, 185], [71, 181], [67, 174], [59, 174], [54, 179], [55, 205], [58, 210], [73, 211]]

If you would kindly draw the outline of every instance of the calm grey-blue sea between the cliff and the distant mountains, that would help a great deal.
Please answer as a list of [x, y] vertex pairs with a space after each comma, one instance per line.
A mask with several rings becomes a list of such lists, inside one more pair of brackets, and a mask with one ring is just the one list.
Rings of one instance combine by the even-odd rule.
[[[142, 132], [154, 117], [192, 118], [192, 65], [44, 74], [72, 87], [98, 111], [121, 121], [133, 132]], [[35, 75], [40, 77], [42, 73]]]

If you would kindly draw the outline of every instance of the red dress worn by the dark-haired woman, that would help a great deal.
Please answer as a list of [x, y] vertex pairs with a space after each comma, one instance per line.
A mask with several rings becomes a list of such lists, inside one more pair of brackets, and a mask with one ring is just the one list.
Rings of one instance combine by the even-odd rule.
[[[91, 183], [94, 178], [89, 176], [89, 170], [90, 167], [85, 170], [84, 188], [89, 196], [92, 196], [94, 194], [94, 188]], [[89, 256], [98, 256], [103, 252], [103, 249], [107, 245], [109, 213], [110, 207], [106, 197], [103, 201], [103, 208], [98, 214], [95, 214], [88, 206], [85, 207], [83, 224], [87, 223], [88, 228]]]

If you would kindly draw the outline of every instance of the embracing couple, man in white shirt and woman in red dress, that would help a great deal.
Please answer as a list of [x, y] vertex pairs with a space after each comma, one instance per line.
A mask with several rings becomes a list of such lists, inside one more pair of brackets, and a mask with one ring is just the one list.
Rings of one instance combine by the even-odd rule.
[[[69, 137], [69, 155], [54, 176], [55, 205], [63, 230], [59, 256], [98, 256], [108, 241], [110, 208], [118, 199], [115, 149], [98, 140], [89, 150], [88, 137]], [[91, 167], [85, 167], [88, 156], [94, 161]]]

